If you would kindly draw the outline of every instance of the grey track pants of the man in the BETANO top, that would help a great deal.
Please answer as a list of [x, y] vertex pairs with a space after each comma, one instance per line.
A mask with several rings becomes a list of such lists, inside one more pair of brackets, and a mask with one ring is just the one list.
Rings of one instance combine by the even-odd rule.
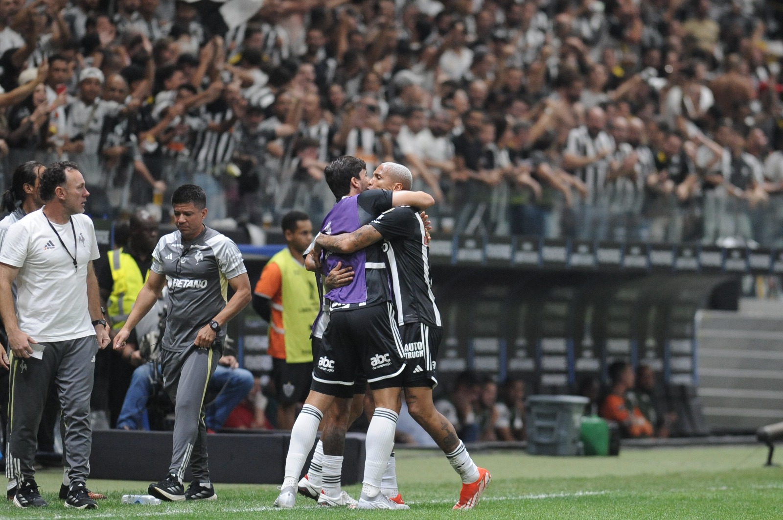
[[209, 482], [204, 395], [220, 352], [195, 346], [182, 352], [161, 351], [164, 389], [174, 403], [174, 447], [168, 472], [181, 481], [190, 465], [193, 480]]

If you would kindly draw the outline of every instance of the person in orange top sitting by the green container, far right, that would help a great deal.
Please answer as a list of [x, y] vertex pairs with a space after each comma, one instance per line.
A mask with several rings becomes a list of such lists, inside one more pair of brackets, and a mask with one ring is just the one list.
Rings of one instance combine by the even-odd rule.
[[629, 399], [636, 380], [633, 367], [625, 361], [615, 361], [609, 365], [608, 372], [612, 387], [601, 403], [601, 417], [618, 423], [625, 437], [651, 437], [652, 424]]

